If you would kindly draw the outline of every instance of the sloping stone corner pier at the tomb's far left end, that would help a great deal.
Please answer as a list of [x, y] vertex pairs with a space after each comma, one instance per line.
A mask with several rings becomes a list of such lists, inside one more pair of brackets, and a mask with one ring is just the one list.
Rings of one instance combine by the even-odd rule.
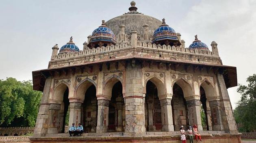
[[52, 78], [46, 78], [46, 83], [43, 89], [43, 96], [39, 111], [37, 114], [37, 122], [34, 129], [33, 137], [40, 137], [47, 133], [48, 120], [49, 120], [49, 95]]

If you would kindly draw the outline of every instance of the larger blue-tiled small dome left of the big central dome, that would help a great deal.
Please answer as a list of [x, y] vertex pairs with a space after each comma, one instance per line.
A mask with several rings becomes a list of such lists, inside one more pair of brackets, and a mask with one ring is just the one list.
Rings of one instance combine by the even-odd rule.
[[105, 21], [102, 20], [102, 25], [93, 30], [91, 34], [90, 43], [93, 42], [113, 42], [115, 43], [115, 34], [105, 25]]

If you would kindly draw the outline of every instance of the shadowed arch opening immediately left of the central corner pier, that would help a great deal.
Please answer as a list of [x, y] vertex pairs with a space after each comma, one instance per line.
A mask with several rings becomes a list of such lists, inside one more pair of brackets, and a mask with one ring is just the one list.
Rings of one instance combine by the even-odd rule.
[[121, 132], [124, 129], [124, 97], [122, 94], [122, 84], [115, 83], [112, 88], [111, 101], [108, 111], [108, 132]]

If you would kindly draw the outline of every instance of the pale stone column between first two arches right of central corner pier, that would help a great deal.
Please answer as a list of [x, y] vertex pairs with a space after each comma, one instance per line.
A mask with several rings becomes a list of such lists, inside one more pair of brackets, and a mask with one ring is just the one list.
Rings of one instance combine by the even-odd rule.
[[162, 114], [162, 131], [174, 131], [171, 111], [171, 99], [162, 99], [161, 114]]

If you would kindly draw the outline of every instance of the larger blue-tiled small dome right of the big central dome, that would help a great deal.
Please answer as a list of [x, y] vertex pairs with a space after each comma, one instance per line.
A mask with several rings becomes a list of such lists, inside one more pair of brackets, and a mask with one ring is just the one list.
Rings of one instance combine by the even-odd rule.
[[165, 23], [165, 19], [163, 19], [162, 25], [160, 25], [160, 27], [158, 27], [155, 30], [152, 42], [154, 43], [160, 40], [177, 40], [178, 41], [178, 37], [176, 36], [175, 30], [169, 27], [169, 25]]

